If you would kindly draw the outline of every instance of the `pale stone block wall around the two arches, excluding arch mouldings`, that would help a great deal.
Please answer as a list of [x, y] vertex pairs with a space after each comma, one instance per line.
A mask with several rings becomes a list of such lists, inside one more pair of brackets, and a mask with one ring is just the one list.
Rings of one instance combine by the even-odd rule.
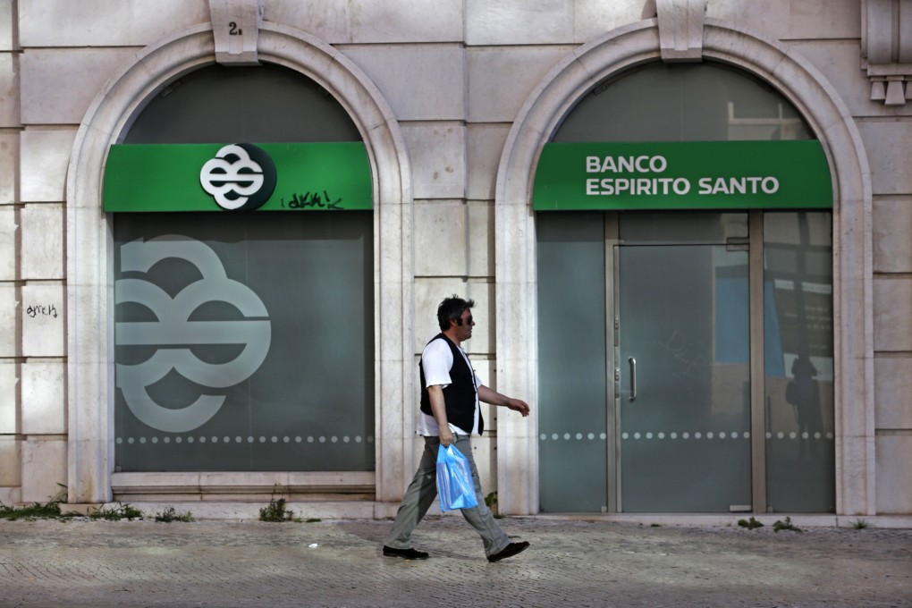
[[[376, 85], [398, 121], [411, 179], [413, 303], [403, 323], [411, 325], [412, 356], [436, 333], [441, 297], [472, 297], [478, 327], [468, 352], [498, 386], [495, 191], [508, 133], [554, 66], [609, 30], [655, 17], [656, 5], [263, 0], [264, 22], [333, 46]], [[864, 434], [876, 461], [853, 474], [876, 489], [868, 514], [912, 514], [912, 469], [904, 464], [912, 461], [912, 100], [892, 107], [870, 100], [856, 0], [708, 0], [706, 18], [802, 57], [848, 108], [845, 120], [864, 142], [873, 337], [857, 365], [873, 364], [870, 402], [861, 408], [872, 420]], [[67, 167], [80, 124], [143, 49], [209, 20], [207, 0], [0, 0], [0, 502], [47, 500], [72, 471], [67, 243], [78, 239], [66, 232]], [[401, 407], [397, 417], [409, 419], [413, 397], [382, 407]], [[495, 432], [478, 448], [485, 491], [497, 480], [494, 414]], [[379, 461], [398, 464], [404, 480], [413, 455], [401, 454], [401, 445]]]

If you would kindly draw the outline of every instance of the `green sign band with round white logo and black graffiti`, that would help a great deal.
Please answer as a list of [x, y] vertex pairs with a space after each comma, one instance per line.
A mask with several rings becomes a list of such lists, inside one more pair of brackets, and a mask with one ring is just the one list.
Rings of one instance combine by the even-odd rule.
[[105, 211], [367, 210], [364, 143], [123, 144], [105, 167]]

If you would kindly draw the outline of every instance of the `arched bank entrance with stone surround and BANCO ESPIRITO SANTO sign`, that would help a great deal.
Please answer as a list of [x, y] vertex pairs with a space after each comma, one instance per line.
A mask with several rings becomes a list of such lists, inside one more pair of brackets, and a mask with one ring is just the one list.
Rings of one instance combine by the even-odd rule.
[[870, 406], [840, 377], [863, 261], [834, 252], [864, 178], [827, 139], [852, 134], [766, 43], [713, 24], [702, 61], [662, 62], [646, 34], [555, 67], [507, 140], [498, 355], [538, 418], [503, 449], [537, 474], [500, 481], [544, 513], [845, 512]]

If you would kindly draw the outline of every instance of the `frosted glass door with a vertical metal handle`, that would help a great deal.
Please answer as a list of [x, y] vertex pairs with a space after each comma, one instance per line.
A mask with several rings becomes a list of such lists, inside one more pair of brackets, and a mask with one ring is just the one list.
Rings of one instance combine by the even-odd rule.
[[747, 252], [617, 253], [621, 509], [750, 510]]

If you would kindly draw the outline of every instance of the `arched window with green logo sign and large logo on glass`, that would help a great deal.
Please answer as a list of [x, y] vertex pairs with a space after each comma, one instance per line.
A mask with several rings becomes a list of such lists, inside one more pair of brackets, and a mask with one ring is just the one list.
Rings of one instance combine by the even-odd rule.
[[[243, 107], [213, 118], [202, 88]], [[373, 471], [372, 192], [357, 129], [275, 67], [209, 67], [174, 89], [105, 170], [115, 470]], [[307, 108], [311, 126], [234, 129], [251, 122], [244, 108]], [[144, 118], [156, 115], [169, 118]], [[212, 131], [270, 143], [188, 143]]]

